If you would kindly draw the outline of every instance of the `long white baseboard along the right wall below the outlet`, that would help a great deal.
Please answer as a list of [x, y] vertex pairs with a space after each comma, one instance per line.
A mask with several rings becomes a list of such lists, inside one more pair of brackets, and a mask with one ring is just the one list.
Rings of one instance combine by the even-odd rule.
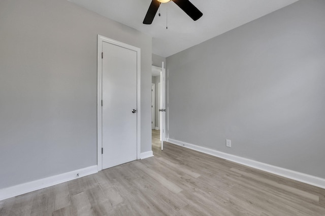
[[213, 149], [209, 149], [206, 147], [202, 147], [202, 146], [198, 146], [198, 145], [193, 145], [193, 144], [189, 144], [189, 143], [185, 143], [185, 142], [181, 142], [178, 140], [173, 140], [173, 139], [167, 139], [167, 142], [173, 143], [175, 145], [178, 146], [182, 146], [188, 149], [192, 149], [192, 150], [196, 150], [199, 152], [203, 152], [209, 155], [213, 155], [216, 157], [220, 157], [226, 160], [230, 160], [236, 163], [240, 163], [246, 166], [250, 166], [256, 169], [260, 169], [263, 171], [267, 171], [270, 172], [272, 174], [278, 175], [278, 176], [282, 176], [288, 179], [293, 179], [299, 182], [303, 182], [309, 185], [313, 185], [319, 188], [324, 188], [325, 189], [325, 179], [319, 178], [319, 177], [315, 177], [315, 176], [311, 176], [308, 174], [304, 174], [302, 172], [297, 172], [294, 170], [290, 170], [290, 169], [286, 169], [286, 168], [282, 168], [282, 167], [278, 167], [278, 166], [273, 166], [267, 163], [262, 163], [262, 162], [258, 162], [255, 160], [251, 160], [251, 159], [247, 159], [244, 157], [239, 157], [236, 155], [232, 155], [232, 154], [228, 154], [228, 153], [224, 153], [224, 152], [220, 152], [217, 150], [213, 150]]

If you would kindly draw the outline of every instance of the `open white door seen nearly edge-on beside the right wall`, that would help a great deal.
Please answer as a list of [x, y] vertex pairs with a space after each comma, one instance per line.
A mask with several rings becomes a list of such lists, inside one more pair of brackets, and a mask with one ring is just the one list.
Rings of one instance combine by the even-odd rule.
[[160, 72], [160, 141], [161, 141], [161, 150], [164, 150], [164, 141], [165, 141], [165, 116], [166, 116], [166, 69], [164, 68], [164, 62], [163, 67]]

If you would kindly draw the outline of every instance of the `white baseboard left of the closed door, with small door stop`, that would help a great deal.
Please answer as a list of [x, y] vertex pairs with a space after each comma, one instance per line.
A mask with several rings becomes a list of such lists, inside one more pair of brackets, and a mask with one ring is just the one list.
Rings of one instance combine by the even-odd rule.
[[[74, 171], [66, 172], [56, 176], [51, 176], [48, 178], [27, 182], [20, 185], [15, 185], [9, 188], [0, 189], [0, 200], [8, 199], [21, 194], [29, 193], [39, 189], [47, 188], [53, 185], [57, 185], [63, 182], [68, 182], [80, 177], [88, 176], [98, 172], [97, 165], [89, 166], [82, 169], [77, 169]], [[77, 176], [79, 174], [79, 176]]]

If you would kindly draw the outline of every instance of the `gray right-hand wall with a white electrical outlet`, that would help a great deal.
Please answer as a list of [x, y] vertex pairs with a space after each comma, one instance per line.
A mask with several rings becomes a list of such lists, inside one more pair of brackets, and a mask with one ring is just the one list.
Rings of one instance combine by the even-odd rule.
[[325, 178], [324, 12], [301, 0], [168, 57], [169, 138]]

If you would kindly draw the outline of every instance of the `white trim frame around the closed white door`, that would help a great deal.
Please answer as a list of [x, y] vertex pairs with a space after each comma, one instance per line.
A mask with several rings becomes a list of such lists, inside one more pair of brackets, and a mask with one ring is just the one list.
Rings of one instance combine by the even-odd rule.
[[97, 169], [103, 169], [103, 155], [102, 155], [102, 83], [103, 83], [103, 65], [102, 65], [102, 50], [103, 42], [108, 42], [119, 47], [137, 52], [137, 159], [140, 159], [141, 154], [141, 49], [124, 44], [123, 42], [97, 35]]

